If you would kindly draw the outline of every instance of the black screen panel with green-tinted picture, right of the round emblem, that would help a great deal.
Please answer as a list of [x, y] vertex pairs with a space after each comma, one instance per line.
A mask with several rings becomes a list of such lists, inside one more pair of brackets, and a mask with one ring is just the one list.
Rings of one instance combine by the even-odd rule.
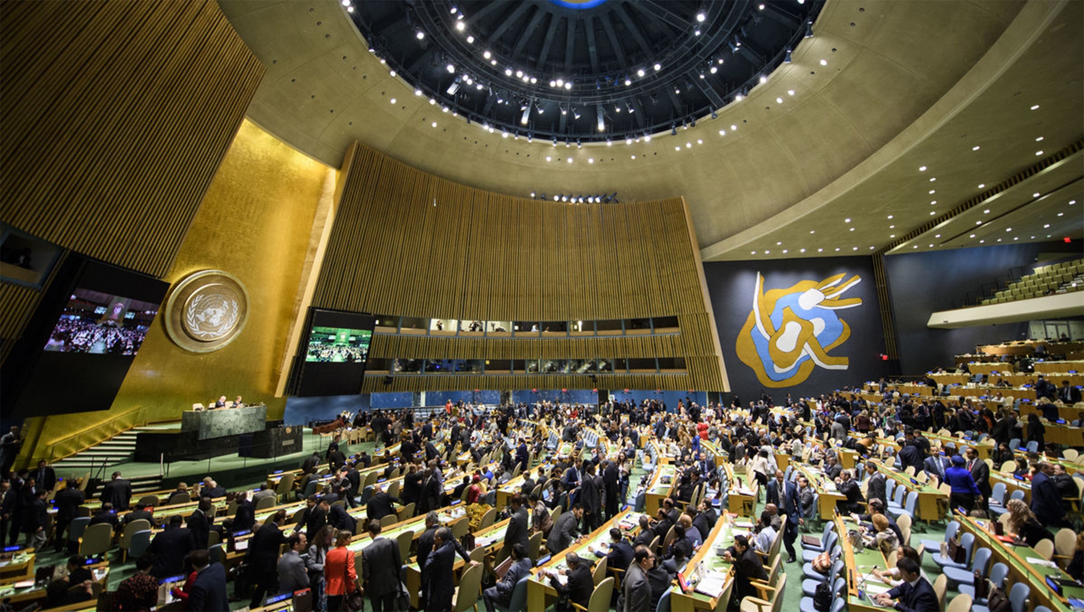
[[361, 393], [376, 318], [358, 312], [312, 309], [291, 372], [289, 393]]

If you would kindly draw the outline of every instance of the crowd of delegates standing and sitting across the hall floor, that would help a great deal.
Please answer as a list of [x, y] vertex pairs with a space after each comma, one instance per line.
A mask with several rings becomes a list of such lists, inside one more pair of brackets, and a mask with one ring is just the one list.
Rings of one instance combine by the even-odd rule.
[[[340, 425], [325, 452], [304, 460], [288, 493], [276, 492], [272, 482], [230, 492], [208, 476], [193, 486], [179, 483], [172, 494], [162, 496], [168, 499], [163, 506], [194, 505], [184, 516], [133, 500], [120, 472], [94, 499], [85, 499], [75, 479], [53, 494], [55, 473], [41, 461], [37, 469], [11, 473], [0, 483], [0, 537], [15, 542], [22, 536], [34, 548], [47, 546], [42, 528], [50, 502], [55, 506], [52, 546], [57, 551], [70, 547], [73, 555], [77, 543], [65, 537], [65, 530], [87, 505], [93, 505], [90, 524], [111, 524], [114, 538], [126, 524], [149, 521], [154, 535], [136, 561], [138, 572], [114, 594], [120, 610], [157, 606], [157, 581], [176, 574], [188, 576], [173, 593], [186, 610], [224, 610], [238, 600], [255, 610], [270, 596], [305, 588], [311, 589], [315, 610], [356, 610], [351, 600], [357, 595], [373, 610], [393, 610], [410, 595], [400, 578], [401, 569], [412, 561], [380, 534], [395, 521], [418, 520], [424, 528], [411, 548], [421, 572], [415, 606], [442, 611], [452, 608], [459, 565], [479, 563], [470, 555], [473, 538], [455, 537], [443, 512], [450, 506], [463, 508], [475, 531], [481, 518], [495, 510], [499, 520], [508, 521], [499, 551], [483, 561], [481, 599], [487, 608], [509, 604], [517, 582], [532, 572], [532, 557], [538, 555], [532, 555], [529, 541], [541, 532], [542, 552], [565, 561], [560, 580], [549, 578], [558, 594], [557, 610], [571, 610], [572, 604], [589, 603], [594, 590], [590, 567], [595, 561], [571, 548], [627, 507], [644, 510], [653, 473], [634, 479], [633, 470], [647, 463], [645, 448], [651, 444], [664, 463], [675, 466], [672, 493], [654, 512], [640, 513], [634, 529], [604, 534], [608, 568], [622, 572], [614, 602], [618, 610], [656, 609], [727, 512], [728, 481], [738, 468], [766, 492], [766, 505], [751, 517], [756, 526], [750, 533], [734, 537], [723, 552], [733, 563], [731, 609], [756, 593], [753, 581], [767, 577], [763, 557], [756, 552], [766, 551], [780, 530], [787, 561], [795, 562], [797, 537], [817, 508], [809, 474], [789, 478], [788, 472], [785, 478], [780, 456], [801, 458], [816, 479], [833, 481], [841, 496], [839, 512], [859, 519], [886, 552], [899, 551], [896, 583], [906, 586], [878, 595], [879, 601], [922, 610], [928, 609], [924, 598], [929, 583], [918, 564], [905, 559], [914, 559], [915, 551], [886, 511], [892, 504], [886, 495], [886, 466], [894, 461], [893, 469], [913, 468], [909, 473], [925, 472], [933, 482], [947, 483], [953, 509], [989, 512], [991, 505], [1003, 506], [1010, 515], [1008, 532], [1032, 545], [1053, 539], [1050, 529], [1069, 524], [1072, 500], [1080, 499], [1072, 477], [1084, 476], [1084, 466], [1075, 465], [1070, 473], [1067, 466], [1073, 464], [1049, 460], [1064, 450], [1045, 443], [1041, 427], [1030, 424], [1024, 437], [1014, 409], [994, 413], [967, 398], [886, 393], [883, 402], [875, 403], [844, 390], [808, 400], [788, 396], [779, 405], [762, 394], [746, 405], [735, 398], [730, 406], [679, 402], [670, 409], [655, 401], [597, 406], [449, 404], [424, 417], [410, 409], [361, 412], [352, 422]], [[588, 440], [586, 428], [605, 440], [605, 450]], [[375, 448], [351, 453], [351, 430], [371, 432]], [[992, 499], [990, 467], [977, 458], [975, 446], [957, 454], [951, 443], [931, 442], [927, 430], [967, 432], [972, 439], [989, 435], [996, 442], [994, 465], [1014, 461], [1014, 476], [1030, 481], [1030, 505]], [[1038, 447], [1029, 453], [1010, 447], [1010, 442], [1023, 439], [1037, 441]], [[709, 446], [714, 450], [710, 454]], [[844, 452], [861, 457], [861, 472], [841, 467]], [[659, 457], [653, 461], [648, 467], [658, 465]], [[384, 484], [365, 486], [363, 474], [374, 470]], [[495, 507], [495, 490], [519, 474], [521, 486]], [[388, 486], [391, 482], [395, 485]], [[697, 497], [698, 491], [705, 494]], [[222, 502], [235, 507], [230, 516], [219, 512]], [[263, 508], [270, 513], [258, 510]], [[552, 520], [555, 508], [560, 511]], [[244, 551], [227, 546], [243, 536], [248, 538]], [[360, 559], [351, 546], [359, 538], [367, 543], [359, 549]], [[208, 546], [211, 539], [223, 543], [218, 554], [208, 551], [215, 548]], [[229, 573], [224, 549], [234, 550], [236, 558]], [[78, 564], [78, 558], [73, 562]], [[818, 569], [827, 572], [814, 563]], [[1077, 542], [1067, 571], [1077, 581], [1084, 578], [1084, 542]], [[228, 581], [233, 582], [232, 596]], [[59, 591], [50, 603], [65, 603], [67, 596]]]

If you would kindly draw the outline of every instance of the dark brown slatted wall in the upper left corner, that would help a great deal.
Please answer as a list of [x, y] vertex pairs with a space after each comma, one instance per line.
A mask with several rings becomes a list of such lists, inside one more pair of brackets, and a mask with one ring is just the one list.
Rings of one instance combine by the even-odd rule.
[[218, 4], [0, 2], [0, 56], [3, 220], [164, 276], [263, 75]]

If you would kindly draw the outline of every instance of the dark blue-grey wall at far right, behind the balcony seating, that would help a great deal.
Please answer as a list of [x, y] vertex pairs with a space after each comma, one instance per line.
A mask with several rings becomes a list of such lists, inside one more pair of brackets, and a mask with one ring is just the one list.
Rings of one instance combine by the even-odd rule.
[[[1028, 322], [930, 329], [930, 313], [952, 310], [964, 299], [982, 292], [982, 285], [1017, 266], [1032, 272], [1041, 252], [1080, 255], [1080, 243], [1031, 243], [893, 255], [885, 258], [896, 348], [902, 374], [921, 374], [937, 366], [953, 365], [953, 356], [973, 352], [979, 344], [1020, 340], [1028, 335]], [[1004, 287], [1004, 284], [1002, 285]]]

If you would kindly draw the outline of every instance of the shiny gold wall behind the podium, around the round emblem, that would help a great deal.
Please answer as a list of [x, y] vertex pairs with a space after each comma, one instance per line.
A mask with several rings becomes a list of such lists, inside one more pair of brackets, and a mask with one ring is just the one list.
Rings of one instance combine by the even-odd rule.
[[[155, 318], [109, 411], [47, 417], [39, 446], [128, 412], [175, 420], [195, 402], [236, 394], [268, 404], [268, 418], [282, 418], [285, 399], [274, 398], [286, 334], [302, 286], [309, 227], [335, 170], [312, 160], [245, 121], [192, 221], [166, 281], [218, 268], [248, 290], [248, 323], [229, 346], [214, 353], [185, 351]], [[78, 450], [73, 441], [57, 447]]]

